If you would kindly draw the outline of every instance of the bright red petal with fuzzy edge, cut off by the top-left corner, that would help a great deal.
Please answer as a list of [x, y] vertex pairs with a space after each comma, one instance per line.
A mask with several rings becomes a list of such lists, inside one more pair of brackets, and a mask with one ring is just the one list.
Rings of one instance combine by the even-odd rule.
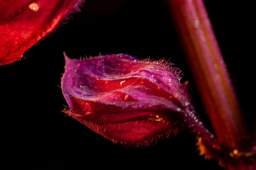
[[22, 54], [52, 32], [79, 0], [0, 0], [0, 65], [22, 58]]

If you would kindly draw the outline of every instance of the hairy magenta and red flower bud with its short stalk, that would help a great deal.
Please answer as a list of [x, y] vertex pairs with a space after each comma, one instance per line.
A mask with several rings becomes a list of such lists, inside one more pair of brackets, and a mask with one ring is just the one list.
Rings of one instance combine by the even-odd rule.
[[61, 86], [70, 109], [64, 112], [113, 142], [149, 146], [187, 125], [211, 136], [179, 81], [180, 70], [164, 59], [112, 54], [65, 60]]

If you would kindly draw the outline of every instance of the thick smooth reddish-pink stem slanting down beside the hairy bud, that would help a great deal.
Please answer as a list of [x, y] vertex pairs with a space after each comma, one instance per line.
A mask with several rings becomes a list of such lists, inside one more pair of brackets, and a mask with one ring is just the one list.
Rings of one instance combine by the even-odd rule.
[[250, 134], [202, 0], [168, 0], [218, 142], [244, 150]]

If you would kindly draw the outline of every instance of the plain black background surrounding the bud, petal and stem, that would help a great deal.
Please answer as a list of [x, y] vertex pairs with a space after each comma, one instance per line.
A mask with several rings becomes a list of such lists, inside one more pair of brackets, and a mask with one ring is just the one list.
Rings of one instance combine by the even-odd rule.
[[[240, 104], [255, 119], [255, 36], [252, 4], [205, 0]], [[63, 51], [70, 58], [128, 53], [139, 59], [169, 59], [189, 80], [193, 104], [208, 122], [203, 104], [164, 1], [87, 0], [82, 12], [24, 53], [26, 59], [0, 67], [1, 157], [24, 169], [159, 168], [222, 169], [198, 156], [195, 136], [183, 132], [147, 149], [126, 149], [61, 112]], [[250, 96], [248, 98], [247, 96]], [[209, 128], [211, 125], [209, 124]]]

